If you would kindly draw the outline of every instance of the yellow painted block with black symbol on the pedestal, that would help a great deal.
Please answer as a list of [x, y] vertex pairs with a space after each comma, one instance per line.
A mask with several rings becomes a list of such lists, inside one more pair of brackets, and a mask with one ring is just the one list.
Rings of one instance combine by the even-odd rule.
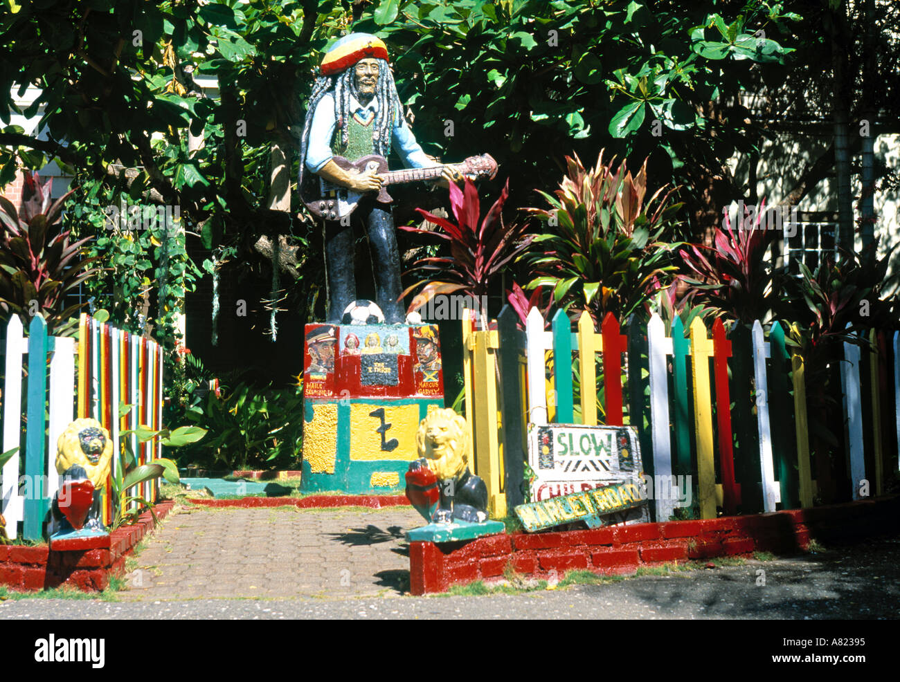
[[[373, 412], [383, 410], [380, 414]], [[380, 432], [383, 425], [391, 425]], [[412, 462], [419, 430], [419, 405], [377, 405], [355, 403], [350, 406], [350, 459], [356, 462], [401, 460]]]

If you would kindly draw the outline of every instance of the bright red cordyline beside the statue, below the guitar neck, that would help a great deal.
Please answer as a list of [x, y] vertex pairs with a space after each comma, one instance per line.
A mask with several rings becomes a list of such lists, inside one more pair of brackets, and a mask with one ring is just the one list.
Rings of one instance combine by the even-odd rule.
[[[450, 247], [450, 256], [421, 258], [413, 264], [412, 270], [432, 274], [432, 277], [419, 280], [401, 294], [406, 296], [424, 284], [412, 300], [410, 312], [418, 310], [438, 295], [461, 293], [475, 297], [476, 301], [484, 300], [482, 297], [488, 295], [493, 279], [534, 238], [526, 235], [527, 224], [503, 224], [501, 211], [508, 196], [509, 180], [503, 186], [500, 198], [482, 219], [478, 190], [466, 178], [464, 190], [456, 184], [450, 184], [450, 207], [456, 224], [428, 211], [416, 209], [425, 219], [435, 223], [438, 229], [431, 231], [421, 227], [401, 226], [401, 229], [408, 232], [444, 239]], [[483, 328], [487, 328], [487, 311], [481, 312]]]

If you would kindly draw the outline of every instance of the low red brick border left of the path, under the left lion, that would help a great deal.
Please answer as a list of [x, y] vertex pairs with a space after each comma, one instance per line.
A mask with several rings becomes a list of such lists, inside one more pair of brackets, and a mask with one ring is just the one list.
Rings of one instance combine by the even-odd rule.
[[[162, 519], [175, 506], [174, 501], [159, 502], [153, 507]], [[0, 585], [13, 589], [45, 589], [70, 585], [85, 592], [107, 588], [110, 576], [125, 571], [125, 557], [145, 534], [154, 527], [149, 512], [141, 514], [138, 523], [122, 525], [106, 537], [84, 541], [54, 543], [27, 547], [21, 544], [0, 545]], [[66, 550], [80, 543], [79, 549]]]

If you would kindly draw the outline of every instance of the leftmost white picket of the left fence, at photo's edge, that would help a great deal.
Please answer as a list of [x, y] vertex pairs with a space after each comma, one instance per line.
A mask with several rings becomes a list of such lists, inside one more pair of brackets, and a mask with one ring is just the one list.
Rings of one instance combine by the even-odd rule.
[[[23, 336], [22, 320], [13, 315], [6, 326], [6, 363], [3, 387], [3, 448], [7, 452], [20, 443], [22, 426], [22, 362], [28, 352], [28, 342]], [[19, 457], [15, 453], [3, 468], [3, 516], [6, 535], [16, 538], [17, 525], [23, 520], [23, 498], [19, 495]]]

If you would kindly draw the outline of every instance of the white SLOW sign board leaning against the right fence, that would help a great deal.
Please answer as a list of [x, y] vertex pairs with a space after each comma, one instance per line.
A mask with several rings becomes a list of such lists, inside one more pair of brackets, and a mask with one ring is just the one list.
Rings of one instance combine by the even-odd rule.
[[535, 472], [536, 502], [624, 483], [644, 472], [633, 426], [531, 424], [528, 464]]

